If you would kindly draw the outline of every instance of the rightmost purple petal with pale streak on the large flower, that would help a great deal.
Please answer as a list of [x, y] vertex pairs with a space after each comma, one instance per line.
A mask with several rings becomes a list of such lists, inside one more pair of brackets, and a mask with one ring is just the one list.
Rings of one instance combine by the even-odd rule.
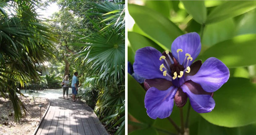
[[186, 76], [187, 80], [192, 80], [201, 85], [206, 92], [215, 92], [229, 79], [229, 70], [217, 58], [206, 59], [199, 71], [193, 76]]

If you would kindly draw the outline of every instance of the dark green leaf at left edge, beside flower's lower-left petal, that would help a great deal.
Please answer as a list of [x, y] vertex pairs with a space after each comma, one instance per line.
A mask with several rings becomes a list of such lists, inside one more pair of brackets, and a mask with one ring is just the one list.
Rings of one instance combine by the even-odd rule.
[[145, 90], [128, 74], [128, 113], [138, 121], [152, 125], [154, 119], [151, 119], [144, 107]]

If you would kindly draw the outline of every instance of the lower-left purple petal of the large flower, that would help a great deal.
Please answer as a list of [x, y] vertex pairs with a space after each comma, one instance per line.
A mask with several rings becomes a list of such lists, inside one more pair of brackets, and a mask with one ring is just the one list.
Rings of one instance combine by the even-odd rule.
[[148, 89], [144, 103], [149, 117], [152, 119], [169, 117], [172, 113], [173, 98], [176, 92], [177, 88], [175, 87], [170, 87], [165, 91], [155, 87]]

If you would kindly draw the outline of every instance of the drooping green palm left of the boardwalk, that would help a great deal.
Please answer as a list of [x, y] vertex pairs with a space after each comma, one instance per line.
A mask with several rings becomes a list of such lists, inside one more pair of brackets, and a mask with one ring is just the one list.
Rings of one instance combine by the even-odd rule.
[[[26, 109], [16, 92], [19, 82], [39, 80], [35, 63], [53, 56], [55, 37], [50, 27], [38, 18], [38, 0], [0, 1], [0, 92], [13, 102], [15, 120]], [[7, 13], [6, 9], [13, 9]], [[5, 95], [7, 93], [7, 95]], [[20, 93], [21, 94], [21, 93]], [[21, 106], [21, 107], [20, 107]]]

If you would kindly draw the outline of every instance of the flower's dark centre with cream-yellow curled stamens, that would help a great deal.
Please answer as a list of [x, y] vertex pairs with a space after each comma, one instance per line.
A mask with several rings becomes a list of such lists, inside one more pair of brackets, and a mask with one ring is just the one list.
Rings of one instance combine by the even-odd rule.
[[[188, 62], [192, 61], [193, 58], [190, 54], [185, 53], [185, 59], [182, 64], [180, 64], [180, 54], [179, 52], [183, 52], [182, 49], [177, 49], [178, 53], [178, 61], [175, 58], [171, 58], [169, 51], [165, 51], [168, 56], [168, 60], [165, 56], [161, 56], [159, 58], [160, 61], [165, 60], [165, 64], [161, 64], [159, 69], [163, 72], [163, 76], [168, 76], [172, 79], [173, 84], [176, 87], [180, 87], [184, 83], [184, 72], [189, 73], [190, 67], [188, 66]], [[165, 67], [167, 66], [167, 67]]]

